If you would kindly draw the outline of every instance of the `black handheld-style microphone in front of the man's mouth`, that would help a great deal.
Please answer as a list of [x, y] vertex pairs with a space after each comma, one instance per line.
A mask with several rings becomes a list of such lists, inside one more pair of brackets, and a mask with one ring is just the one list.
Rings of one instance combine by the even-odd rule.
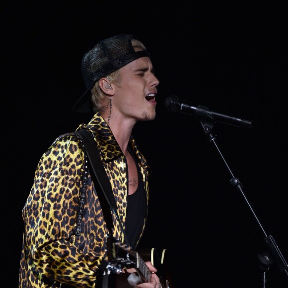
[[165, 99], [164, 106], [170, 112], [182, 112], [190, 115], [195, 115], [195, 117], [201, 121], [204, 121], [204, 118], [238, 127], [250, 128], [252, 126], [252, 121], [250, 120], [229, 116], [214, 111], [209, 111], [207, 107], [202, 105], [192, 106], [191, 104], [186, 103], [185, 100], [180, 101], [179, 97], [176, 95], [167, 97]]

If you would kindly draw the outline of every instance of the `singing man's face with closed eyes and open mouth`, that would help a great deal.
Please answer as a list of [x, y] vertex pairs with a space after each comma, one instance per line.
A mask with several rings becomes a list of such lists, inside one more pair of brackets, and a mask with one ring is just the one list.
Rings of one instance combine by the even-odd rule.
[[124, 117], [153, 120], [156, 116], [157, 85], [153, 66], [148, 57], [141, 57], [120, 69], [121, 84], [115, 85], [113, 105]]

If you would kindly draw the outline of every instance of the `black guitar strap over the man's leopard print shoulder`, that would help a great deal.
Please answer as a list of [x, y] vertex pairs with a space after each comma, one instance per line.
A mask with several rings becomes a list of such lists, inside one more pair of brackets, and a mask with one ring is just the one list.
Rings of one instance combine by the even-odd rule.
[[92, 171], [94, 172], [94, 174], [91, 173], [91, 178], [93, 180], [94, 186], [95, 188], [97, 187], [100, 188], [100, 191], [102, 190], [103, 192], [103, 194], [98, 193], [97, 196], [101, 204], [101, 208], [104, 214], [106, 225], [112, 235], [112, 228], [113, 228], [113, 221], [112, 221], [112, 215], [111, 215], [111, 211], [112, 211], [115, 217], [117, 218], [119, 225], [122, 229], [125, 242], [127, 245], [129, 245], [127, 236], [125, 234], [124, 228], [122, 226], [122, 223], [120, 221], [120, 218], [117, 212], [117, 205], [116, 205], [115, 198], [112, 192], [111, 183], [108, 179], [107, 173], [100, 159], [100, 151], [97, 147], [97, 144], [95, 143], [92, 135], [90, 134], [88, 130], [81, 129], [77, 131], [76, 133], [82, 139], [82, 142], [84, 144], [84, 147], [88, 155], [89, 167], [92, 168]]

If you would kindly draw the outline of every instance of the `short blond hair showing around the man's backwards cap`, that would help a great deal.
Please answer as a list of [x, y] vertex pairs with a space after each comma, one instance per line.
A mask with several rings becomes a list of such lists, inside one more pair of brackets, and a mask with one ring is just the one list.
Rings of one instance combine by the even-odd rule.
[[[132, 43], [134, 50], [136, 50], [136, 51], [146, 50], [144, 44], [139, 40], [132, 38], [131, 43]], [[121, 74], [120, 74], [119, 69], [108, 74], [105, 77], [107, 78], [109, 83], [113, 82], [118, 86], [121, 84]], [[104, 99], [105, 99], [105, 93], [100, 88], [99, 80], [98, 80], [98, 81], [96, 81], [95, 85], [91, 89], [91, 100], [93, 103], [94, 112], [96, 112], [96, 111], [101, 112], [101, 111], [103, 111], [103, 109], [105, 109], [105, 106], [104, 107], [100, 106]]]

